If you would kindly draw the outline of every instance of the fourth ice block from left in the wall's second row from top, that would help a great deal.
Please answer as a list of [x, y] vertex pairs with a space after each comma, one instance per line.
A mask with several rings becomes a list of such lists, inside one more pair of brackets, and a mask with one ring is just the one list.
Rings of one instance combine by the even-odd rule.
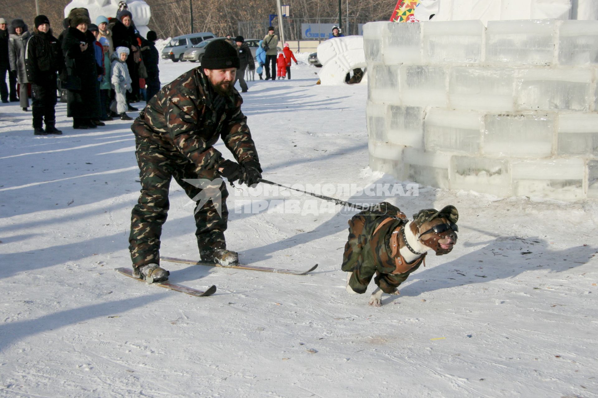
[[515, 77], [518, 110], [589, 110], [590, 69], [526, 69]]

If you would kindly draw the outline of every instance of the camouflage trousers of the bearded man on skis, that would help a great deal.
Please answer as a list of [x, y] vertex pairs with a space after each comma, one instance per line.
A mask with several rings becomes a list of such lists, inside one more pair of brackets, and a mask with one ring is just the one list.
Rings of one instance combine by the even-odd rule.
[[[228, 221], [226, 206], [228, 191], [224, 182], [219, 183], [219, 186], [210, 186], [210, 189], [215, 190], [216, 193], [220, 192], [221, 200], [208, 199], [203, 206], [200, 206], [198, 198], [201, 196], [202, 189], [184, 179], [213, 180], [213, 171], [207, 172], [197, 167], [174, 148], [167, 149], [139, 137], [136, 137], [135, 156], [139, 164], [141, 195], [131, 212], [129, 251], [133, 267], [151, 263], [160, 264], [160, 235], [170, 207], [168, 191], [172, 177], [185, 190], [187, 196], [196, 201], [195, 235], [200, 252], [225, 249], [224, 231], [227, 229]], [[218, 180], [215, 183], [218, 183]], [[218, 210], [221, 210], [222, 217], [218, 214]]]

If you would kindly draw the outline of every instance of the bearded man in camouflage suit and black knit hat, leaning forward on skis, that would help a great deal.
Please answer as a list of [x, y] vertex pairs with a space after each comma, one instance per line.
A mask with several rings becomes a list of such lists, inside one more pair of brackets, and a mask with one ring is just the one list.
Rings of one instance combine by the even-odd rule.
[[[160, 234], [169, 208], [170, 180], [197, 205], [194, 211], [200, 257], [227, 265], [237, 263], [226, 249], [228, 192], [221, 177], [248, 186], [261, 178], [261, 167], [243, 99], [233, 87], [239, 57], [224, 39], [206, 46], [202, 66], [164, 86], [135, 119], [136, 158], [141, 195], [131, 215], [129, 250], [135, 276], [168, 279], [160, 268]], [[213, 145], [222, 137], [236, 162], [225, 160]]]

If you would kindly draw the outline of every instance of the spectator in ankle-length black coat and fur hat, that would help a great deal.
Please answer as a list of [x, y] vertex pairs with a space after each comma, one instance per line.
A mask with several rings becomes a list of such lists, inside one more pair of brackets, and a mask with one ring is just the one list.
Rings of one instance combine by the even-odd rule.
[[102, 71], [96, 63], [93, 42], [96, 38], [87, 30], [91, 23], [86, 8], [74, 8], [69, 14], [69, 28], [62, 42], [68, 90], [66, 116], [73, 118], [73, 128], [96, 128], [92, 119], [100, 118], [99, 88], [96, 81]]

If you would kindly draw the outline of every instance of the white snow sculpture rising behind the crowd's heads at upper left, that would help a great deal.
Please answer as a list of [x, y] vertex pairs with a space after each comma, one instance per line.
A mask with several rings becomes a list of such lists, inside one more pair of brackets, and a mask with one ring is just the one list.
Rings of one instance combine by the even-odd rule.
[[[120, 2], [122, 0], [72, 0], [65, 7], [65, 18], [68, 17], [73, 8], [87, 8], [91, 23], [95, 23], [96, 18], [100, 15], [106, 18], [115, 18]], [[149, 32], [147, 25], [149, 18], [151, 18], [149, 5], [144, 0], [129, 0], [126, 4], [131, 14], [133, 14], [135, 27], [145, 37]]]

